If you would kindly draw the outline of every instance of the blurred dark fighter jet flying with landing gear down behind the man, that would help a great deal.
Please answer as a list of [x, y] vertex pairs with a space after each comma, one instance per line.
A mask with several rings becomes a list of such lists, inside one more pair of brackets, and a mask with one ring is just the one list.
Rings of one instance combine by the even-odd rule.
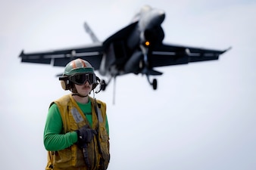
[[111, 79], [128, 73], [145, 75], [155, 90], [157, 80], [151, 81], [150, 76], [162, 75], [155, 70], [155, 67], [217, 60], [220, 54], [229, 50], [229, 48], [214, 50], [164, 44], [164, 30], [161, 27], [164, 18], [163, 10], [145, 5], [128, 26], [115, 32], [104, 42], [100, 42], [89, 25], [85, 23], [85, 29], [93, 41], [91, 45], [38, 53], [22, 51], [21, 62], [66, 66], [70, 60], [82, 58], [92, 63], [101, 76], [108, 77], [107, 82], [102, 81], [104, 82], [103, 90]]

